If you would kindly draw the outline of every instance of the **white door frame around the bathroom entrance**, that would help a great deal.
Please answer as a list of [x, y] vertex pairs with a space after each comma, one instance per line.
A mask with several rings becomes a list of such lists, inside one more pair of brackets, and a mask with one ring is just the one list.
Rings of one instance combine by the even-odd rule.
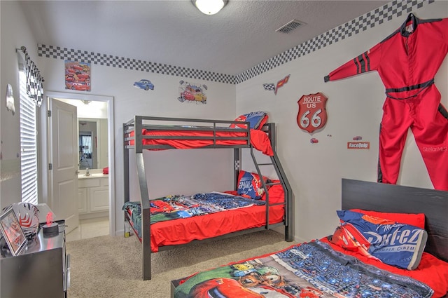
[[[59, 91], [45, 91], [45, 98], [46, 103], [48, 104], [48, 100], [50, 98], [60, 98], [65, 100], [92, 100], [92, 101], [99, 101], [99, 102], [106, 102], [107, 103], [107, 114], [108, 114], [108, 120], [107, 120], [107, 132], [108, 132], [108, 151], [109, 151], [109, 235], [115, 236], [116, 235], [116, 201], [115, 201], [115, 148], [114, 148], [114, 128], [113, 128], [113, 96], [106, 96], [106, 95], [90, 95], [90, 94], [81, 94], [81, 93], [68, 93], [68, 92], [59, 92]], [[45, 111], [46, 114], [46, 111]], [[46, 115], [45, 115], [46, 116]], [[46, 120], [46, 117], [45, 117]], [[42, 123], [42, 122], [41, 122]], [[46, 126], [46, 124], [45, 124]], [[45, 136], [43, 136], [45, 137]], [[48, 136], [47, 140], [48, 140]], [[48, 142], [45, 142], [43, 146], [45, 148], [49, 148], [50, 146]], [[41, 156], [43, 158], [43, 156]], [[43, 158], [46, 159], [46, 158]], [[48, 163], [43, 163], [43, 175], [47, 176], [45, 177], [44, 181], [48, 181], [48, 174], [46, 171], [46, 168], [48, 166]], [[48, 197], [48, 191], [46, 193], [46, 196]], [[45, 198], [45, 190], [43, 192], [43, 197]], [[45, 200], [44, 200], [45, 201]], [[43, 202], [45, 203], [45, 202]]]

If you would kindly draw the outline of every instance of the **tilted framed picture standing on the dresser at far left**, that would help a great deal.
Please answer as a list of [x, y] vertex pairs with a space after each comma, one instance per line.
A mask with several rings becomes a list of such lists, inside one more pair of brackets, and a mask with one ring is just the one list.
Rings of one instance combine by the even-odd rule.
[[0, 229], [3, 238], [8, 243], [11, 255], [20, 255], [20, 252], [27, 247], [28, 241], [13, 208], [10, 208], [0, 216]]

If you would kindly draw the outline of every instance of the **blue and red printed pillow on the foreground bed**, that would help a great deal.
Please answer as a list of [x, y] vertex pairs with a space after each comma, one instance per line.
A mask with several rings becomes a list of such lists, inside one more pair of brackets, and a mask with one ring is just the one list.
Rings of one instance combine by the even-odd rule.
[[419, 266], [428, 238], [424, 229], [350, 210], [338, 210], [337, 216], [341, 224], [332, 243], [398, 268]]

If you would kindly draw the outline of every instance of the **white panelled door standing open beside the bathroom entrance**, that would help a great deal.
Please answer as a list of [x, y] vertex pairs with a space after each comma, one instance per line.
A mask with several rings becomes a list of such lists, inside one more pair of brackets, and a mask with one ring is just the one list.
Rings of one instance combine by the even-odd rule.
[[50, 99], [50, 208], [65, 219], [66, 233], [78, 227], [78, 115], [76, 107]]

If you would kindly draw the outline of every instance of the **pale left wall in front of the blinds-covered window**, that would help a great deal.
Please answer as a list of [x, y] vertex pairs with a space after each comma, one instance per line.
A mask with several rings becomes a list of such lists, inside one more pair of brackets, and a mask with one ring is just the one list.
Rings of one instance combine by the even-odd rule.
[[[31, 34], [20, 6], [15, 1], [0, 1], [1, 11], [1, 199], [0, 208], [21, 201], [20, 187], [20, 114], [18, 54], [15, 49], [25, 46], [36, 60], [37, 42]], [[13, 28], [13, 29], [11, 29]], [[15, 98], [15, 114], [7, 111], [6, 86], [11, 84]]]

